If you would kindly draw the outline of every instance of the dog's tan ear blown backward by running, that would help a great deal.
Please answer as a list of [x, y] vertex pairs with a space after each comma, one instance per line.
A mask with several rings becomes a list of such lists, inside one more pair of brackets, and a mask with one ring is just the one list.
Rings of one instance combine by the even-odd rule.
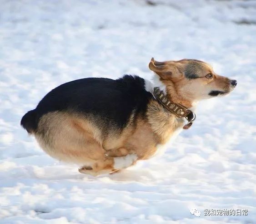
[[149, 68], [151, 71], [158, 74], [162, 79], [170, 80], [171, 78], [177, 78], [178, 76], [182, 75], [178, 68], [178, 64], [172, 61], [158, 62], [155, 61], [154, 58], [151, 58]]

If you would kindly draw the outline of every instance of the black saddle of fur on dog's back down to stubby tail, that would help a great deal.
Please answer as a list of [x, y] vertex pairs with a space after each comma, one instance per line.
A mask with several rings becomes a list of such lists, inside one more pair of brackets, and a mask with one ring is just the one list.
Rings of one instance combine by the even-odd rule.
[[[36, 130], [40, 117], [48, 112], [70, 111], [81, 116], [95, 117], [103, 129], [125, 127], [132, 112], [135, 117], [146, 115], [152, 94], [145, 90], [145, 80], [125, 75], [117, 80], [83, 78], [60, 85], [50, 91], [33, 110], [25, 114], [21, 124]], [[31, 115], [31, 116], [30, 116]], [[32, 116], [33, 115], [33, 116]]]

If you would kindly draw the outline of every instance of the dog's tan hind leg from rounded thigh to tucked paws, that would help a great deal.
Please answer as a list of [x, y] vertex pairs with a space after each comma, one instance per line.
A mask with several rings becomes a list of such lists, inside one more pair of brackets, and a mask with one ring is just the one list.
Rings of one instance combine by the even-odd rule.
[[90, 175], [109, 174], [135, 163], [137, 156], [129, 151], [107, 156], [102, 146], [102, 133], [86, 119], [64, 112], [51, 112], [41, 117], [35, 137], [50, 156], [83, 166], [79, 172]]

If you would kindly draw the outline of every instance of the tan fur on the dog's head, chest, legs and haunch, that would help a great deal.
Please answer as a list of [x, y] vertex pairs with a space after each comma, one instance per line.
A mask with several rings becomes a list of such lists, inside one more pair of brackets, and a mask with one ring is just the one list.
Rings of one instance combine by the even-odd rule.
[[[166, 86], [166, 93], [173, 102], [192, 107], [197, 100], [206, 98], [206, 93], [211, 90], [231, 91], [230, 80], [217, 75], [211, 66], [201, 61], [195, 60], [195, 68], [202, 78], [186, 78], [188, 63], [191, 60], [156, 62], [152, 58], [149, 64]], [[212, 73], [214, 78], [204, 78], [207, 73]], [[164, 145], [183, 125], [183, 119], [175, 117], [152, 99], [147, 106], [146, 119], [135, 118], [132, 113], [122, 130], [115, 127], [104, 130], [94, 115], [84, 117], [74, 112], [49, 112], [40, 118], [34, 134], [50, 156], [79, 164], [81, 173], [99, 175], [118, 170], [115, 158], [125, 161], [125, 156], [133, 154], [137, 160], [150, 158], [156, 153], [157, 146]], [[127, 166], [135, 163], [131, 161]]]

